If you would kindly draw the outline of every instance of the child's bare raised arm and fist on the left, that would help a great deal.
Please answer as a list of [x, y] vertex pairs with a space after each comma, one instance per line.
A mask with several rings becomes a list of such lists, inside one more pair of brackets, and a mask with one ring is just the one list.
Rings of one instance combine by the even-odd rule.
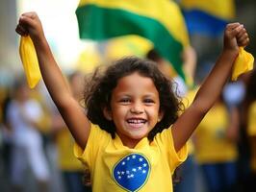
[[90, 122], [83, 108], [72, 97], [62, 71], [54, 60], [38, 14], [36, 12], [23, 13], [19, 18], [16, 32], [21, 36], [31, 36], [38, 55], [39, 68], [44, 84], [76, 142], [82, 148], [85, 148], [90, 133]]

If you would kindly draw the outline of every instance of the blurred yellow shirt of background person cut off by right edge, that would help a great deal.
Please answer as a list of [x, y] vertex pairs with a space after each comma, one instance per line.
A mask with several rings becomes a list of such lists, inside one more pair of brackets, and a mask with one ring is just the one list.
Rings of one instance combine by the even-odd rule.
[[253, 102], [248, 109], [247, 134], [251, 148], [250, 165], [256, 173], [256, 102]]

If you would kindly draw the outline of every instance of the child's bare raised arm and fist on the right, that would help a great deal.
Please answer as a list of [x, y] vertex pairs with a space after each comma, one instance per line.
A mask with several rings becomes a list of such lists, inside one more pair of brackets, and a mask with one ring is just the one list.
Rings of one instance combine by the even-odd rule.
[[239, 47], [248, 44], [248, 35], [243, 25], [232, 23], [226, 26], [224, 46], [214, 68], [199, 88], [190, 108], [173, 124], [172, 134], [176, 151], [187, 142], [204, 115], [217, 101], [227, 82]]

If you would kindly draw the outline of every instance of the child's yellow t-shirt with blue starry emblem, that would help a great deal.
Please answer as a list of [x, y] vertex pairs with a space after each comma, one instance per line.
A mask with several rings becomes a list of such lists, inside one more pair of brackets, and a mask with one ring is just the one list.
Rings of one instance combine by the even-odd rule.
[[134, 149], [123, 146], [120, 138], [91, 125], [87, 148], [78, 145], [74, 154], [90, 169], [92, 190], [172, 191], [171, 175], [187, 157], [187, 145], [175, 152], [171, 130], [158, 133], [149, 143], [141, 139]]

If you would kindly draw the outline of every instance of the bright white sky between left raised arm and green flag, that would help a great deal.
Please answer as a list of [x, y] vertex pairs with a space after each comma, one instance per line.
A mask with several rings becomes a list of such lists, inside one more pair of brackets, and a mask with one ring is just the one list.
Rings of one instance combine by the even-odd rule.
[[22, 12], [38, 12], [55, 59], [66, 70], [73, 69], [82, 51], [95, 46], [95, 42], [79, 38], [75, 14], [78, 3], [78, 0], [17, 1], [17, 17]]

